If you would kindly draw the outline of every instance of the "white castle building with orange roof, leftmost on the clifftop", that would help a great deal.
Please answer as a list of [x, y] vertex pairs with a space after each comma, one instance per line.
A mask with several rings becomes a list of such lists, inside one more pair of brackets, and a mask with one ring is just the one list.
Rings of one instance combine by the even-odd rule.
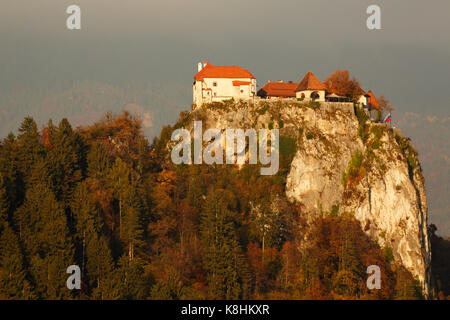
[[256, 96], [255, 77], [241, 67], [199, 63], [194, 79], [192, 91], [195, 106], [230, 99], [248, 101]]

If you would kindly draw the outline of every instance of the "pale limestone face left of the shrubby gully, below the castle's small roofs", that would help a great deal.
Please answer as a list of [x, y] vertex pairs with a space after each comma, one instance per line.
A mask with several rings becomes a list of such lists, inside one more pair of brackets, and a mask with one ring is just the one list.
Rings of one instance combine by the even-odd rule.
[[339, 108], [329, 118], [321, 112], [309, 113], [303, 122], [306, 134], [299, 139], [287, 176], [286, 194], [304, 205], [305, 211], [316, 214], [341, 203], [342, 172], [363, 145], [358, 139], [358, 121], [351, 113]]

